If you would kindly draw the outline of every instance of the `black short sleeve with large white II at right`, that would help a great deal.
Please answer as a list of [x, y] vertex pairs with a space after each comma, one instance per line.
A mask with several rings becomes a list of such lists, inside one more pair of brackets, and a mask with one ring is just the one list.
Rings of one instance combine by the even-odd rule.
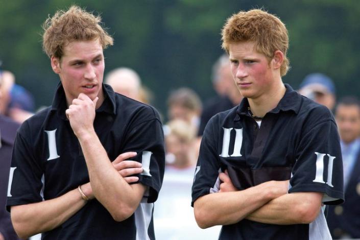
[[333, 118], [305, 130], [296, 149], [289, 193], [315, 191], [324, 193], [325, 204], [344, 202], [340, 138]]

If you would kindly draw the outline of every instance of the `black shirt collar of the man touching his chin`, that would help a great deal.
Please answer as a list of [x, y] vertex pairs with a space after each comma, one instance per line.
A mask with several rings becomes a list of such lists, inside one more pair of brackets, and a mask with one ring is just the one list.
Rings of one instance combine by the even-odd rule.
[[[96, 112], [106, 112], [109, 114], [116, 114], [116, 104], [115, 104], [115, 93], [112, 88], [103, 83], [103, 91], [104, 91], [104, 102], [103, 104], [96, 110]], [[53, 103], [51, 106], [51, 111], [57, 111], [59, 117], [62, 119], [67, 119], [65, 115], [65, 111], [67, 109], [66, 97], [64, 88], [59, 82], [57, 85]]]

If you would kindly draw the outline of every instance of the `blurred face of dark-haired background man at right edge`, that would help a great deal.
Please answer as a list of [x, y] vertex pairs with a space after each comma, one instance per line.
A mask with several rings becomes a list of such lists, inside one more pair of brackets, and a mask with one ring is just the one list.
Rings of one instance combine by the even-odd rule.
[[356, 105], [339, 105], [335, 112], [340, 138], [350, 143], [360, 136], [360, 108]]

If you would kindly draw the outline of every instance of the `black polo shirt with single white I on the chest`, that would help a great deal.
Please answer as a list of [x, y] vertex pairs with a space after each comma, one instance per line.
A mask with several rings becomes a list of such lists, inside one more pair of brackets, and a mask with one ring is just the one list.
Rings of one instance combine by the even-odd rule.
[[[114, 93], [103, 84], [105, 101], [96, 110], [94, 129], [108, 157], [135, 151], [148, 186], [135, 213], [116, 222], [96, 199], [42, 239], [154, 239], [153, 206], [164, 173], [164, 139], [157, 111]], [[22, 124], [12, 156], [7, 207], [57, 198], [89, 181], [80, 143], [65, 116], [66, 99], [59, 84], [51, 107]]]

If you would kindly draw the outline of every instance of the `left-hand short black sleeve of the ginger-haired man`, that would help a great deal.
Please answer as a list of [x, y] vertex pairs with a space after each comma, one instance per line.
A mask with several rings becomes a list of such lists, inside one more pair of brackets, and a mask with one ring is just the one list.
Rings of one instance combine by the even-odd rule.
[[215, 139], [218, 139], [218, 135], [214, 133], [216, 131], [213, 131], [214, 118], [215, 117], [212, 117], [206, 125], [201, 139], [199, 158], [191, 194], [191, 206], [194, 206], [194, 202], [201, 196], [210, 194], [210, 190], [215, 188], [215, 183], [219, 176], [221, 164], [219, 154], [217, 153], [217, 141], [215, 141]]

